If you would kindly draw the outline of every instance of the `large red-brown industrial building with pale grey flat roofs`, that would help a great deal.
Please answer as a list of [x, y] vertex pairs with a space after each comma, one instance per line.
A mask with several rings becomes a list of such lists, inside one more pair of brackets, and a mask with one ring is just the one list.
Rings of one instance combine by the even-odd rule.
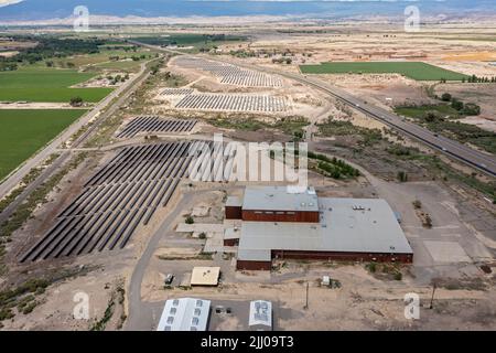
[[413, 260], [384, 200], [317, 197], [313, 188], [249, 186], [240, 214], [240, 229], [226, 232], [224, 239], [228, 246], [238, 244], [237, 269], [270, 270], [274, 258]]

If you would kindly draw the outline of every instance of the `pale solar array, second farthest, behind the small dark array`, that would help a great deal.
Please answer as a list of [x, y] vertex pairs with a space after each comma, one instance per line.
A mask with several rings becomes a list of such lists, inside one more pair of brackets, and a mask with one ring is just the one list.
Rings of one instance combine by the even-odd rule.
[[267, 95], [193, 94], [182, 98], [175, 108], [281, 113], [287, 111], [288, 105], [283, 97]]

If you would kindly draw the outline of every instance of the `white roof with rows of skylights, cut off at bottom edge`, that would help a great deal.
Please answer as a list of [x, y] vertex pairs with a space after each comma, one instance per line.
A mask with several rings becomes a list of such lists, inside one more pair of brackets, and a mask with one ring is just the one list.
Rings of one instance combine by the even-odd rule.
[[211, 301], [196, 298], [165, 302], [157, 331], [206, 331]]

